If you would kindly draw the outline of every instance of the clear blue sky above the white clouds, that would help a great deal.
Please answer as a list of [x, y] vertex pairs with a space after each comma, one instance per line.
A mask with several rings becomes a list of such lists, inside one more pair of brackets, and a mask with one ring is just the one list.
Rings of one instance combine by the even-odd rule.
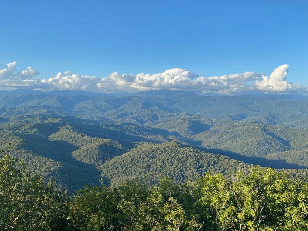
[[[288, 64], [308, 85], [307, 1], [5, 1], [0, 64], [107, 77], [173, 67], [206, 76]], [[0, 69], [1, 69], [0, 67]]]

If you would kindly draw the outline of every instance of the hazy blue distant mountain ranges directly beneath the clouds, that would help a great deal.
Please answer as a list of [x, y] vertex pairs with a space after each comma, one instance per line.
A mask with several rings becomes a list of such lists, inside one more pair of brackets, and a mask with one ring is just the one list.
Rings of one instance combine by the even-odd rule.
[[306, 128], [303, 122], [307, 121], [308, 111], [305, 97], [286, 100], [283, 96], [206, 96], [184, 91], [146, 91], [121, 97], [83, 91], [63, 91], [61, 94], [57, 91], [1, 95], [0, 99], [1, 117], [4, 118], [16, 113], [25, 114], [22, 110], [31, 110], [34, 114], [65, 114], [115, 123], [131, 119], [127, 123], [132, 124], [185, 112], [207, 118]]

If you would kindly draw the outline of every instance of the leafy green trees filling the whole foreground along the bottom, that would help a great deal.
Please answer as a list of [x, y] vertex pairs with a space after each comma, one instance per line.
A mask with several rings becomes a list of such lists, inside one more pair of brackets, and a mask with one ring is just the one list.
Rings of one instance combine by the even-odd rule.
[[308, 179], [256, 166], [234, 177], [205, 172], [194, 181], [124, 180], [59, 193], [55, 181], [0, 159], [0, 230], [307, 230]]

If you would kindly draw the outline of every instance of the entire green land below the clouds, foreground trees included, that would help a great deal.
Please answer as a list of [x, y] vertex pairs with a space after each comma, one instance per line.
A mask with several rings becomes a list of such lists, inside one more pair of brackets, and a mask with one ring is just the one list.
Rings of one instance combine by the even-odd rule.
[[308, 100], [2, 91], [0, 230], [308, 230]]

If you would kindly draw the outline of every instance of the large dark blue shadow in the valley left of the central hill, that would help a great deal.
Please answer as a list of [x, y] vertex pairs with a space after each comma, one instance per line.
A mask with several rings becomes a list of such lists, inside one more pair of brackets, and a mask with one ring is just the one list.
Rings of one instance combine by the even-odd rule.
[[82, 188], [84, 184], [100, 184], [101, 172], [94, 165], [73, 158], [72, 152], [78, 149], [77, 146], [33, 134], [20, 134], [19, 137], [26, 141], [24, 148], [27, 150], [59, 162], [60, 167], [50, 175], [55, 176], [60, 183], [63, 182], [71, 193]]

